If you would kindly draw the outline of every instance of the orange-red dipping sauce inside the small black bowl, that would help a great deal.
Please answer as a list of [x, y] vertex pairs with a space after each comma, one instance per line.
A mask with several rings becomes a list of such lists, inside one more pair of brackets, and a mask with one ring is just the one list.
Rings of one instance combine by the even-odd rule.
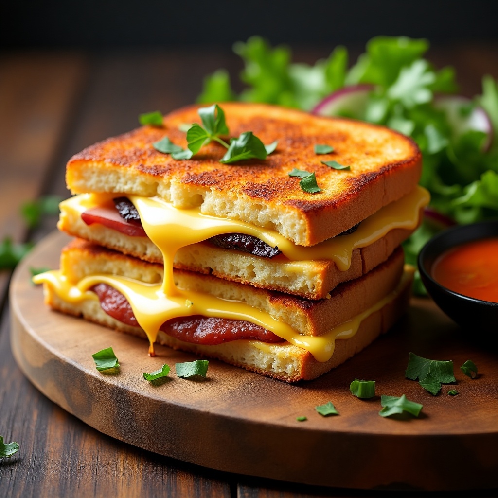
[[432, 265], [431, 275], [454, 292], [498, 303], [498, 237], [443, 252]]

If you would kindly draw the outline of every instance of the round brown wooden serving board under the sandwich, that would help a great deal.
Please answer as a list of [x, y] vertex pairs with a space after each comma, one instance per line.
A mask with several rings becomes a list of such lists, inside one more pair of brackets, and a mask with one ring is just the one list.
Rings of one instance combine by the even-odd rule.
[[[54, 233], [16, 269], [10, 288], [14, 357], [31, 382], [87, 424], [141, 448], [223, 471], [347, 488], [457, 490], [498, 487], [498, 358], [427, 299], [372, 346], [317, 380], [294, 385], [218, 361], [208, 379], [174, 372], [190, 354], [147, 343], [47, 309], [30, 267], [58, 267], [68, 241]], [[118, 374], [100, 373], [92, 354], [112, 346]], [[408, 354], [453, 360], [457, 383], [437, 396], [406, 379]], [[471, 359], [477, 379], [460, 371]], [[169, 377], [154, 385], [142, 373], [164, 363]], [[376, 381], [377, 396], [350, 393], [354, 378]], [[457, 396], [449, 396], [457, 389]], [[419, 418], [378, 415], [380, 394], [422, 403]], [[332, 401], [339, 416], [315, 406]], [[306, 416], [298, 422], [296, 417]]]

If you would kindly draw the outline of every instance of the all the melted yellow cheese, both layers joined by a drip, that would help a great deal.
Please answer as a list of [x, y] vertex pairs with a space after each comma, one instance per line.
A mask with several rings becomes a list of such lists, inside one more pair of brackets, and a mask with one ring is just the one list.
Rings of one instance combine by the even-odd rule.
[[[73, 209], [84, 211], [108, 202], [119, 194], [83, 194], [64, 201]], [[270, 314], [239, 301], [229, 301], [201, 292], [176, 287], [173, 280], [173, 258], [178, 249], [226, 233], [243, 233], [278, 247], [290, 260], [288, 264], [304, 265], [309, 260], [332, 259], [341, 270], [351, 264], [354, 249], [366, 247], [396, 228], [413, 229], [418, 225], [420, 209], [429, 201], [428, 192], [417, 187], [409, 195], [393, 202], [364, 220], [352, 234], [335, 237], [313, 247], [298, 247], [278, 232], [262, 229], [238, 220], [204, 215], [199, 209], [177, 209], [159, 198], [127, 196], [135, 205], [147, 237], [161, 250], [164, 258], [162, 285], [153, 285], [115, 275], [91, 275], [74, 284], [60, 271], [50, 271], [33, 278], [35, 283], [46, 282], [63, 300], [79, 302], [97, 299], [89, 291], [98, 283], [106, 283], [119, 290], [131, 305], [135, 318], [149, 339], [149, 352], [159, 327], [167, 320], [202, 315], [234, 320], [247, 320], [270, 330], [290, 344], [309, 351], [316, 360], [325, 362], [334, 352], [336, 338], [352, 337], [362, 320], [390, 302], [402, 288], [403, 282], [391, 294], [352, 320], [315, 337], [302, 336], [288, 324]], [[188, 227], [188, 229], [187, 229]], [[408, 278], [405, 272], [404, 278]], [[262, 346], [260, 346], [262, 347]]]

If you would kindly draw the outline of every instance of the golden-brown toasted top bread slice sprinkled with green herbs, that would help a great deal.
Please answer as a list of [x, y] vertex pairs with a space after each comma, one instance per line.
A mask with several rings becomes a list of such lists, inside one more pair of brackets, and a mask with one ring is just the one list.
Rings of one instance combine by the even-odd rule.
[[[73, 193], [117, 192], [159, 196], [177, 207], [277, 230], [297, 245], [312, 246], [348, 230], [417, 183], [421, 155], [409, 138], [388, 128], [256, 104], [222, 105], [231, 136], [252, 131], [263, 143], [278, 140], [266, 160], [222, 164], [222, 145], [211, 142], [189, 160], [154, 149], [164, 136], [186, 147], [179, 127], [199, 122], [197, 107], [173, 112], [164, 128], [144, 126], [92, 145], [73, 156], [66, 182]], [[334, 152], [314, 153], [315, 144]], [[350, 166], [336, 170], [323, 160]], [[316, 174], [321, 192], [310, 194], [288, 173]]]

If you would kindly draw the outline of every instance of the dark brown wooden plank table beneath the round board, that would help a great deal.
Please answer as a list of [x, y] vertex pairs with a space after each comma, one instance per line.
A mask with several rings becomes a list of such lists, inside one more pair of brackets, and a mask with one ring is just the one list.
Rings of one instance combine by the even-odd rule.
[[[300, 50], [312, 62], [331, 47]], [[464, 95], [480, 92], [483, 74], [498, 77], [498, 46], [431, 50], [452, 64]], [[55, 228], [45, 218], [28, 231], [19, 214], [43, 194], [67, 196], [64, 167], [85, 146], [137, 125], [141, 112], [192, 103], [202, 77], [240, 62], [228, 49], [109, 53], [15, 52], [0, 55], [0, 241], [37, 241]], [[0, 272], [0, 434], [19, 452], [0, 460], [0, 496], [380, 497], [397, 491], [325, 489], [197, 467], [112, 439], [68, 414], [22, 375], [9, 346], [8, 271]], [[496, 496], [496, 490], [403, 496]]]

